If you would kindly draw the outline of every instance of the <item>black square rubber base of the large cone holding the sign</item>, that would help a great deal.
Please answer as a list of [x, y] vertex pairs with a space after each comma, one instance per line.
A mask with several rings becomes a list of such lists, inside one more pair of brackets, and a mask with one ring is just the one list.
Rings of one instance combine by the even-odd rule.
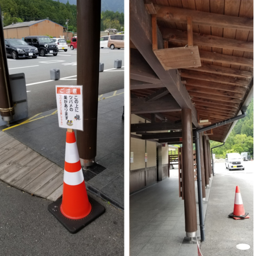
[[72, 220], [66, 218], [60, 211], [60, 205], [62, 203], [62, 198], [56, 200], [52, 204], [48, 205], [48, 210], [57, 218], [57, 220], [66, 228], [70, 233], [75, 234], [82, 228], [85, 228], [88, 224], [94, 221], [96, 218], [105, 213], [105, 208], [95, 201], [92, 197], [88, 196], [89, 202], [91, 204], [91, 212], [85, 218], [80, 220]]

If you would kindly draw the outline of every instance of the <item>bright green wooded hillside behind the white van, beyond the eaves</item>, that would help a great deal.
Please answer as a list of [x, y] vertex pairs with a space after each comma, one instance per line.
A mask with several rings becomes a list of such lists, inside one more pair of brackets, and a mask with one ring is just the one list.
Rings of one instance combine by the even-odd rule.
[[[211, 147], [220, 144], [222, 143], [211, 141]], [[216, 158], [225, 158], [230, 152], [250, 152], [253, 157], [253, 99], [248, 106], [247, 116], [236, 123], [224, 146], [213, 150]]]

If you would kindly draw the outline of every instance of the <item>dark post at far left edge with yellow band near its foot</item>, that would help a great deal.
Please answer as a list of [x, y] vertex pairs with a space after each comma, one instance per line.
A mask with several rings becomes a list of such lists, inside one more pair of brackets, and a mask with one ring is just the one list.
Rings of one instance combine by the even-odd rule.
[[[1, 7], [0, 7], [1, 13]], [[0, 15], [0, 115], [3, 121], [10, 123], [13, 119], [14, 105], [11, 95], [9, 69], [5, 51], [5, 36], [3, 35], [2, 16]]]

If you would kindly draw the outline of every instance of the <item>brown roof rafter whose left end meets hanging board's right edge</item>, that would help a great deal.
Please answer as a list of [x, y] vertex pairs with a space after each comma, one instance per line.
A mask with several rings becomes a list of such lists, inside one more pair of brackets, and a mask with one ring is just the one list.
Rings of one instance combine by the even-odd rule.
[[213, 61], [223, 64], [234, 64], [246, 67], [253, 67], [253, 59], [247, 59], [238, 56], [226, 55], [216, 52], [207, 52], [199, 50], [199, 56], [201, 60]]

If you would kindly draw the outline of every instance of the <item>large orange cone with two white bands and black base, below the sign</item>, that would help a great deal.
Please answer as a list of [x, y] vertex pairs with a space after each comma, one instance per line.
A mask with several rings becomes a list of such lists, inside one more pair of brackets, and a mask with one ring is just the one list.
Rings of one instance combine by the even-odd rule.
[[48, 210], [72, 234], [105, 212], [86, 192], [74, 131], [66, 133], [63, 197], [49, 204]]

